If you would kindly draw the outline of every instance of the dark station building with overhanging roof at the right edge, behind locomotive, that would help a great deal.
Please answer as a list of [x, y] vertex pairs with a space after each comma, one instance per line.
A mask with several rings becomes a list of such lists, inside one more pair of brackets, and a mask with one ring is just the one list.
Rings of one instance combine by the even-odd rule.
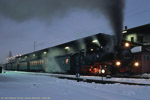
[[140, 62], [140, 68], [137, 73], [150, 73], [150, 24], [134, 27], [125, 30], [123, 40], [129, 41], [132, 45], [137, 46], [132, 51], [134, 57]]

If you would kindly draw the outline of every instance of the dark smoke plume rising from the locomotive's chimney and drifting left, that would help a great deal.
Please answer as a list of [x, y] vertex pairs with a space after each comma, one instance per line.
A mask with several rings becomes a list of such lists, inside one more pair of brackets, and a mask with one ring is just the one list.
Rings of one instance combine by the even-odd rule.
[[73, 8], [103, 13], [116, 34], [116, 44], [121, 40], [125, 0], [0, 0], [0, 15], [22, 22], [32, 18], [53, 20], [64, 17]]

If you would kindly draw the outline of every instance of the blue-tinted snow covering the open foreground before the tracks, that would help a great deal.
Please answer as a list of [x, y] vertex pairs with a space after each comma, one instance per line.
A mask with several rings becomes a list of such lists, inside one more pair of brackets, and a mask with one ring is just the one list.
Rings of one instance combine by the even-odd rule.
[[40, 74], [0, 74], [0, 100], [149, 100], [150, 86], [95, 84]]

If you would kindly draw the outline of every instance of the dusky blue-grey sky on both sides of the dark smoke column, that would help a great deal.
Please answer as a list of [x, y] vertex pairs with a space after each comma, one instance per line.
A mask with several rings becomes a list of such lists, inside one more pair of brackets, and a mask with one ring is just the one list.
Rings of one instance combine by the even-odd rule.
[[[33, 52], [34, 42], [40, 50], [96, 33], [114, 32], [108, 16], [93, 7], [97, 0], [46, 1], [0, 0], [0, 63], [6, 61], [9, 51], [13, 56]], [[81, 5], [75, 6], [74, 1]], [[123, 26], [150, 23], [150, 0], [125, 1]]]

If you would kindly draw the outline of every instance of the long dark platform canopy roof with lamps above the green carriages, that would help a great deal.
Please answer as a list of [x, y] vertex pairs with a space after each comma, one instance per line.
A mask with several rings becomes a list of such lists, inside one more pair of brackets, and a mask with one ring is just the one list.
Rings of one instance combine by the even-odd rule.
[[[28, 56], [28, 55], [31, 55], [31, 54], [34, 54], [34, 53], [40, 54], [41, 52], [44, 52], [44, 51], [48, 52], [50, 50], [55, 50], [55, 48], [63, 50], [65, 47], [73, 47], [75, 49], [75, 51], [78, 52], [79, 50], [81, 50], [80, 46], [82, 44], [84, 44], [86, 47], [92, 47], [94, 45], [92, 43], [92, 41], [94, 39], [97, 39], [100, 42], [100, 45], [105, 46], [108, 43], [108, 41], [110, 41], [110, 39], [114, 39], [113, 37], [114, 37], [113, 35], [98, 33], [98, 34], [91, 35], [91, 36], [88, 36], [88, 37], [84, 37], [84, 38], [81, 38], [81, 39], [73, 40], [73, 41], [70, 41], [70, 42], [67, 42], [67, 43], [62, 43], [62, 44], [58, 44], [56, 46], [52, 46], [52, 47], [48, 47], [48, 48], [38, 50], [38, 51], [35, 51], [35, 52], [27, 53], [27, 54], [22, 55], [22, 57]], [[17, 57], [17, 58], [19, 58], [19, 57]]]

